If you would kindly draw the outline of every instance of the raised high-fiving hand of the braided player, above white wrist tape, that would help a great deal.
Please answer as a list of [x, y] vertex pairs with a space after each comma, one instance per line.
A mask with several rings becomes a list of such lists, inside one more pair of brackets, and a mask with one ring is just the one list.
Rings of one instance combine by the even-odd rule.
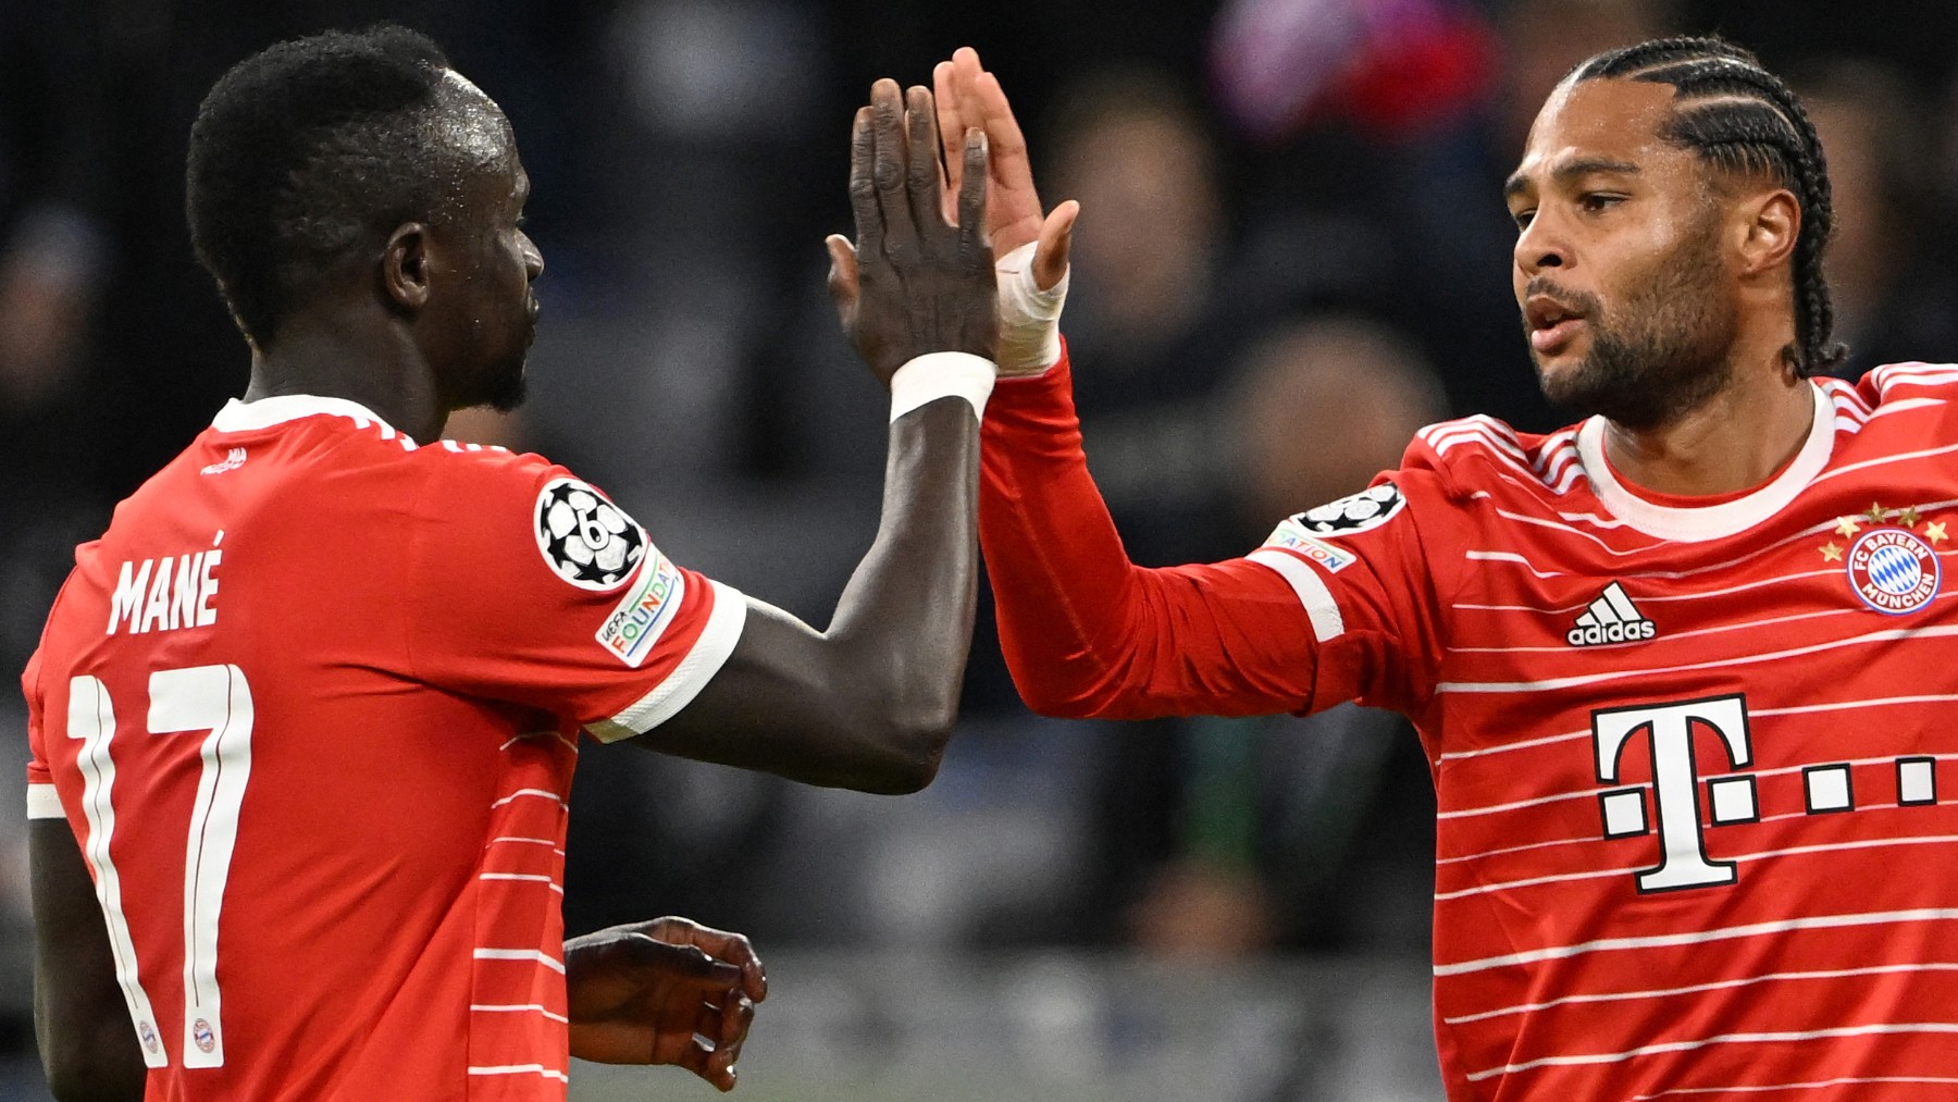
[[946, 135], [946, 170], [950, 186], [963, 190], [963, 164], [954, 155], [952, 135], [967, 127], [983, 129], [991, 157], [993, 180], [987, 190], [985, 225], [993, 249], [1001, 256], [1038, 241], [1034, 247], [1034, 284], [1049, 290], [1067, 272], [1067, 243], [1075, 229], [1081, 204], [1067, 200], [1042, 215], [1040, 192], [1034, 188], [1034, 162], [1026, 155], [1026, 137], [1012, 117], [1012, 104], [999, 76], [979, 65], [979, 51], [959, 47], [952, 61], [932, 69], [932, 88], [938, 94], [938, 131]]

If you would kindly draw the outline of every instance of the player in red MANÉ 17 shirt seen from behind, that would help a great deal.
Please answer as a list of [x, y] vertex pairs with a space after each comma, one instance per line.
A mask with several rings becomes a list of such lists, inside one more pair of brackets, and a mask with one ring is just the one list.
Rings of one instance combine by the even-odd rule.
[[217, 82], [188, 213], [251, 386], [78, 548], [23, 677], [57, 1096], [564, 1098], [570, 1055], [734, 1086], [752, 951], [685, 920], [564, 941], [566, 799], [580, 732], [883, 793], [938, 765], [997, 337], [985, 141], [957, 225], [930, 92], [879, 82], [854, 143], [860, 249], [830, 253], [891, 462], [815, 630], [568, 470], [439, 438], [521, 397], [542, 258], [509, 123], [435, 43], [327, 33]]

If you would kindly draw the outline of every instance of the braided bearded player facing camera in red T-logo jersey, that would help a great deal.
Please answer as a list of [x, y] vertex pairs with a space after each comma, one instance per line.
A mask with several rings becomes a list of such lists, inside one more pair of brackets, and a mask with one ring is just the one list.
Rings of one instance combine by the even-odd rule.
[[1083, 458], [1073, 209], [1042, 215], [975, 55], [938, 92], [942, 129], [993, 139], [979, 527], [1036, 711], [1408, 714], [1455, 1100], [1958, 1092], [1958, 366], [1821, 378], [1829, 176], [1780, 78], [1647, 41], [1537, 115], [1502, 196], [1515, 301], [1588, 419], [1433, 425], [1247, 556], [1169, 570], [1128, 562]]

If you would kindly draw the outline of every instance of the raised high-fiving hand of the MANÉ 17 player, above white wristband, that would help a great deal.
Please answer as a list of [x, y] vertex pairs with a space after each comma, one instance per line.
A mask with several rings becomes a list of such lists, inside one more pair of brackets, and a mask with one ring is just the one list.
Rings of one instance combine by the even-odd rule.
[[[987, 137], [961, 131], [954, 221], [938, 166], [930, 90], [871, 86], [850, 149], [858, 241], [832, 235], [830, 298], [863, 362], [887, 386], [926, 352], [995, 358], [999, 344], [993, 249], [985, 235]], [[950, 141], [950, 139], [948, 139]]]

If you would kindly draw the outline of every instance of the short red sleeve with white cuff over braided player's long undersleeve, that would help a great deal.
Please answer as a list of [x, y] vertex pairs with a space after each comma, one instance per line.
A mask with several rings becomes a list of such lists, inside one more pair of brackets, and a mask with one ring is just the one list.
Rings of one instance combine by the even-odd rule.
[[1416, 712], [1433, 695], [1439, 540], [1449, 509], [1431, 470], [1382, 474], [1351, 497], [1286, 517], [1251, 552], [1279, 572], [1318, 640], [1312, 711], [1345, 701]]

